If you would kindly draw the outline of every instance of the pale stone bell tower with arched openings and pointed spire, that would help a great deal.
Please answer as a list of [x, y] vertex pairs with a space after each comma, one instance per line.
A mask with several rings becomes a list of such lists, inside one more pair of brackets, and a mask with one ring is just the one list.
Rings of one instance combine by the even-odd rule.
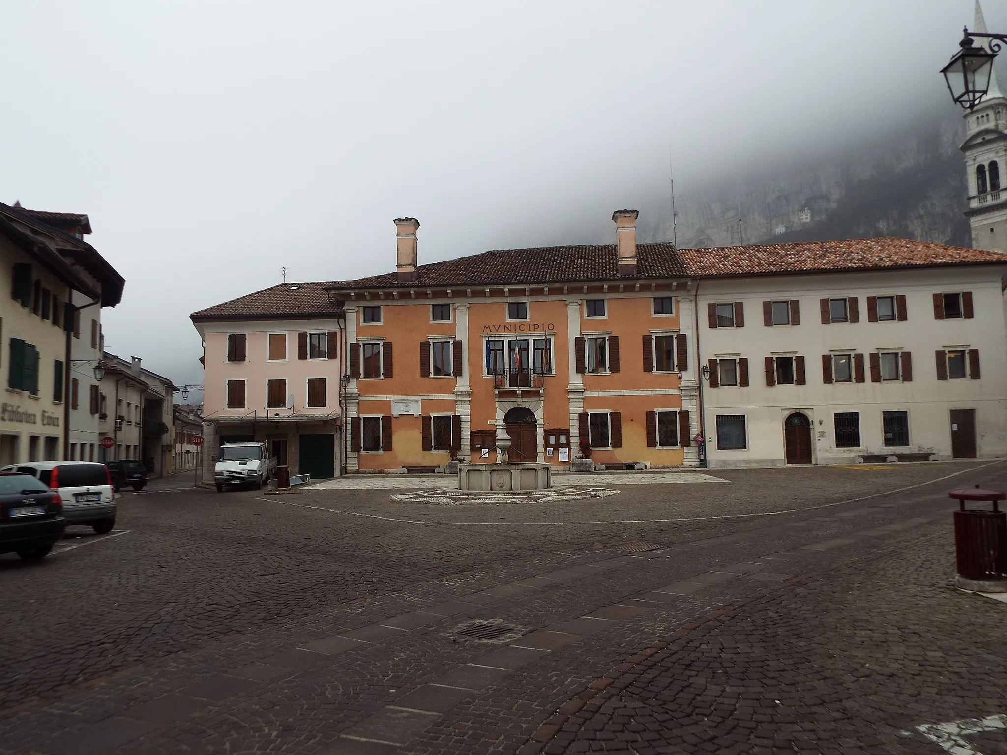
[[[976, 0], [976, 21], [971, 31], [985, 32], [986, 19]], [[989, 40], [977, 38], [988, 48]], [[965, 114], [966, 184], [972, 228], [972, 248], [1007, 252], [1007, 98], [990, 73], [990, 88], [974, 110]]]

